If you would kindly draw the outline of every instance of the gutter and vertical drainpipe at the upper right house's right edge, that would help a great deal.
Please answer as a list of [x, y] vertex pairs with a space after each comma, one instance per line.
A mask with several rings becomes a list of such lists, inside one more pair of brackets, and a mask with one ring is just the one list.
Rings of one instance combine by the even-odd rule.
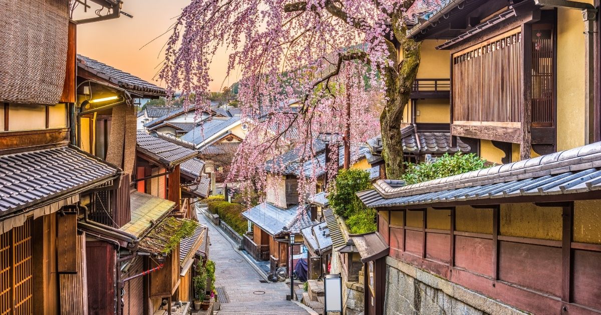
[[585, 2], [568, 0], [534, 0], [534, 3], [543, 7], [567, 8], [581, 10], [584, 22], [585, 35], [585, 144], [593, 143], [595, 139], [595, 103], [594, 103], [594, 20], [597, 19], [597, 9]]

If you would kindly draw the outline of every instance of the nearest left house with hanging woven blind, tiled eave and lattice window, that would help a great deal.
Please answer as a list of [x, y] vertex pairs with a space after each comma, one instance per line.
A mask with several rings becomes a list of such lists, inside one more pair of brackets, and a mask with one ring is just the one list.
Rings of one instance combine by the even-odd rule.
[[111, 14], [86, 17], [69, 1], [2, 4], [0, 313], [88, 313], [78, 205], [116, 190], [123, 169], [76, 146], [76, 25], [117, 18], [121, 5], [90, 1]]

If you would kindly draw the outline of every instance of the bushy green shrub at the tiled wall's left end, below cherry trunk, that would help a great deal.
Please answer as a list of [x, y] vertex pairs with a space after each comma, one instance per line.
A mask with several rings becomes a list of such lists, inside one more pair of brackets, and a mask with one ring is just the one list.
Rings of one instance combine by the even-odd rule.
[[367, 208], [355, 195], [371, 188], [370, 173], [365, 170], [341, 170], [336, 176], [328, 201], [337, 215], [349, 226], [350, 233], [360, 234], [376, 230], [376, 211]]

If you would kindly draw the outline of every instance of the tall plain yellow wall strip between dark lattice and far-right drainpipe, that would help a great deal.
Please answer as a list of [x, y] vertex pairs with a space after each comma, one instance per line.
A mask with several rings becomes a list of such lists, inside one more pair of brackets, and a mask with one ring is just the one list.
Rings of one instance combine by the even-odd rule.
[[563, 151], [584, 145], [585, 38], [581, 11], [559, 8], [557, 20], [557, 151]]

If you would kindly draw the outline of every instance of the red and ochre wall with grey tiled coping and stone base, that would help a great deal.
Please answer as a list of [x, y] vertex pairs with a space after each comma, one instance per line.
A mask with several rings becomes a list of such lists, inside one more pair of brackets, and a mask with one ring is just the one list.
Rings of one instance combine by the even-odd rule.
[[600, 313], [600, 157], [597, 142], [357, 193], [390, 247], [362, 255], [373, 262], [369, 314]]

